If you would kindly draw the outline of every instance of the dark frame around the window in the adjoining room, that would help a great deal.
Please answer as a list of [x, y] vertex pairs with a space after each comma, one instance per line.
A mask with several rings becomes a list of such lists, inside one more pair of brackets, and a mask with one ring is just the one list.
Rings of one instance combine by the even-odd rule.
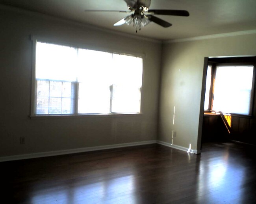
[[239, 114], [239, 113], [230, 113], [231, 116], [251, 118], [253, 113], [253, 104], [254, 104], [255, 86], [256, 86], [255, 84], [256, 83], [256, 57], [248, 56], [248, 57], [230, 57], [230, 58], [209, 58], [208, 66], [209, 65], [212, 66], [211, 67], [211, 89], [210, 89], [208, 110], [204, 110], [204, 112], [214, 111], [212, 110], [213, 100], [214, 100], [213, 86], [215, 82], [217, 66], [253, 66], [249, 114], [245, 115], [245, 114]]

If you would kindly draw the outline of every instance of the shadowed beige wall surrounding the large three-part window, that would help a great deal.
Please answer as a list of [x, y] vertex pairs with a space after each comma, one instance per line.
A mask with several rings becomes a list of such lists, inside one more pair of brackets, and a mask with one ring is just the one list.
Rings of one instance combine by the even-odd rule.
[[[0, 157], [156, 140], [160, 42], [9, 10], [0, 11], [0, 27]], [[143, 114], [30, 119], [30, 35], [90, 49], [145, 54]], [[25, 144], [19, 144], [20, 137], [25, 137]]]

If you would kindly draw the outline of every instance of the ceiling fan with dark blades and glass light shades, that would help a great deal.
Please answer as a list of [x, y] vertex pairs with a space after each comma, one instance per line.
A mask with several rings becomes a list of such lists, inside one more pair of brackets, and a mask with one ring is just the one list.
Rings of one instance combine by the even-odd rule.
[[133, 22], [134, 27], [141, 30], [141, 26], [147, 26], [150, 22], [154, 22], [162, 27], [170, 27], [172, 24], [162, 20], [154, 15], [171, 15], [171, 16], [189, 16], [189, 12], [185, 10], [163, 10], [149, 9], [151, 0], [124, 0], [129, 11], [117, 10], [85, 10], [85, 11], [100, 11], [100, 12], [119, 12], [132, 13], [114, 24], [114, 26], [130, 25]]

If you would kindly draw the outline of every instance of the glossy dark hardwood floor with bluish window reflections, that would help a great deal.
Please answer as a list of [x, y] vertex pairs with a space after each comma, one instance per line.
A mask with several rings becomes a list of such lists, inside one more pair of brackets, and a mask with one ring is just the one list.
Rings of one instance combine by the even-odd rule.
[[208, 142], [194, 155], [152, 144], [1, 162], [1, 203], [255, 204], [255, 150]]

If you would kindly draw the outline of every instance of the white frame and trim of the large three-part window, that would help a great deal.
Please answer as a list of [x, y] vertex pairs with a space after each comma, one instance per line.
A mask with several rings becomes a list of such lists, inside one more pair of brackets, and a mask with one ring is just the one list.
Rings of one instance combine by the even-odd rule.
[[[48, 44], [56, 44], [56, 45], [60, 45], [60, 46], [69, 46], [69, 47], [74, 47], [74, 48], [80, 48], [80, 49], [89, 49], [89, 50], [94, 50], [94, 51], [101, 51], [101, 52], [107, 52], [107, 53], [112, 53], [112, 54], [117, 54], [117, 55], [127, 55], [127, 56], [134, 56], [134, 57], [139, 57], [142, 59], [142, 61], [144, 62], [146, 56], [143, 53], [127, 53], [126, 51], [119, 51], [119, 50], [109, 50], [109, 49], [104, 49], [104, 48], [92, 48], [90, 46], [86, 46], [84, 44], [77, 46], [75, 44], [67, 44], [67, 43], [63, 43], [59, 40], [49, 40], [47, 38], [41, 38], [41, 37], [37, 37], [37, 36], [33, 36], [31, 35], [31, 41], [32, 41], [32, 71], [31, 71], [31, 102], [30, 102], [30, 118], [76, 118], [76, 117], [87, 117], [87, 116], [100, 116], [100, 117], [115, 117], [115, 116], [128, 116], [128, 115], [141, 115], [143, 114], [143, 106], [142, 106], [142, 96], [143, 96], [143, 76], [144, 76], [144, 64], [142, 63], [142, 84], [141, 87], [139, 89], [140, 94], [141, 94], [141, 101], [140, 101], [140, 112], [139, 113], [114, 113], [114, 112], [110, 112], [110, 113], [78, 113], [78, 111], [76, 111], [75, 113], [72, 114], [47, 114], [47, 115], [43, 115], [43, 114], [36, 114], [36, 91], [37, 91], [37, 87], [36, 87], [36, 77], [35, 77], [35, 65], [36, 65], [36, 45], [37, 42], [43, 42], [43, 43], [48, 43]], [[79, 82], [74, 83], [76, 86], [76, 91], [75, 91], [75, 100], [74, 100], [74, 106], [77, 109], [78, 106], [78, 84]], [[112, 87], [112, 85], [111, 85]], [[111, 89], [110, 89], [111, 91]], [[112, 95], [112, 92], [111, 92]], [[110, 104], [111, 105], [111, 104]], [[111, 109], [109, 109], [111, 111]]]

